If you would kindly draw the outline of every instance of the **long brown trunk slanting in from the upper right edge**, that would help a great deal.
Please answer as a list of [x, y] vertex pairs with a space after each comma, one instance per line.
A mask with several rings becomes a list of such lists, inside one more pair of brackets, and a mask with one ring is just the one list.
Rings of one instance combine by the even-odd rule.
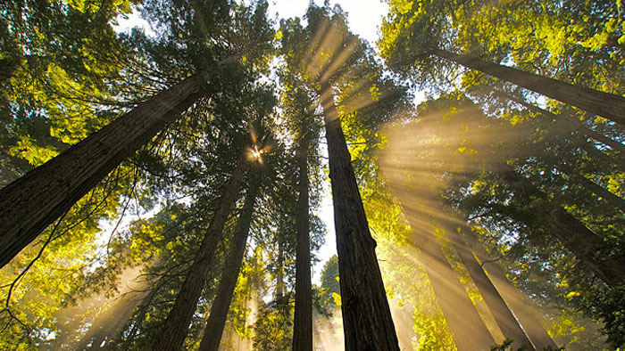
[[573, 86], [562, 80], [537, 76], [534, 73], [521, 69], [482, 61], [467, 55], [450, 53], [437, 48], [432, 49], [432, 53], [467, 68], [477, 69], [490, 76], [503, 79], [538, 94], [543, 94], [559, 102], [568, 103], [581, 110], [586, 110], [625, 126], [625, 98], [622, 96], [600, 92], [583, 86]]

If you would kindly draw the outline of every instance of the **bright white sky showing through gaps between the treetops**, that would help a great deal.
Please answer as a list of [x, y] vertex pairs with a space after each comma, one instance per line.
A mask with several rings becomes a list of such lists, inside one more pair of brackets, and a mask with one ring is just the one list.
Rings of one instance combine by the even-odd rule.
[[[314, 3], [322, 5], [323, 0], [314, 0]], [[279, 19], [303, 18], [308, 4], [309, 0], [269, 0], [269, 17], [276, 20], [277, 23]], [[387, 4], [377, 0], [339, 0], [330, 2], [331, 6], [334, 6], [334, 4], [340, 4], [343, 11], [347, 13], [347, 21], [352, 32], [368, 40], [371, 47], [375, 48], [375, 41], [379, 37], [379, 27], [382, 23], [382, 18], [388, 11]], [[147, 33], [151, 32], [149, 24], [146, 20], [140, 19], [137, 12], [130, 14], [128, 20], [118, 20], [118, 22], [119, 25], [116, 27], [118, 31], [142, 27]], [[322, 149], [324, 156], [328, 157], [325, 147]], [[326, 242], [318, 254], [321, 262], [312, 267], [312, 282], [317, 284], [321, 282], [323, 265], [325, 265], [329, 257], [337, 253], [334, 214], [328, 180], [323, 184], [323, 187], [325, 196], [321, 201], [321, 208], [317, 212], [317, 216], [320, 216], [321, 220], [326, 224], [327, 234]]]

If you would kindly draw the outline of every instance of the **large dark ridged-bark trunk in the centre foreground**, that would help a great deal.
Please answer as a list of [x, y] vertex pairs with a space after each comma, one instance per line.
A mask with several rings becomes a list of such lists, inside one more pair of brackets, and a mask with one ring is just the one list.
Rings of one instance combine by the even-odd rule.
[[346, 351], [399, 350], [382, 275], [331, 87], [321, 82]]

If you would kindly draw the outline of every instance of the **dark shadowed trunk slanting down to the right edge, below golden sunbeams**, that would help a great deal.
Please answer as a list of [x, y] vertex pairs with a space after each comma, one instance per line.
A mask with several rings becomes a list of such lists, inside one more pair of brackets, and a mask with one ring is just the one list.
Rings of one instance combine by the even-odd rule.
[[[516, 173], [512, 168], [502, 164], [499, 170], [504, 180], [511, 184], [516, 196], [531, 197], [547, 200], [548, 196], [540, 192], [523, 176]], [[548, 201], [548, 200], [547, 200]], [[625, 262], [620, 260], [604, 260], [605, 253], [612, 249], [606, 242], [586, 225], [579, 222], [577, 218], [571, 216], [559, 204], [551, 201], [546, 203], [547, 210], [541, 215], [544, 223], [548, 224], [554, 237], [562, 245], [571, 251], [575, 257], [584, 265], [587, 265], [599, 279], [606, 284], [614, 286], [622, 282], [625, 273]]]

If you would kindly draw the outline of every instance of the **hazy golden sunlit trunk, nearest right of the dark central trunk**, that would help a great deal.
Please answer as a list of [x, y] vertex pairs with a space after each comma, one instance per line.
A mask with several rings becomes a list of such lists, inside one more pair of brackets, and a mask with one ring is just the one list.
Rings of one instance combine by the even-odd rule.
[[479, 316], [458, 275], [432, 231], [423, 229], [429, 214], [404, 191], [394, 193], [402, 204], [404, 216], [412, 226], [413, 244], [421, 251], [423, 265], [432, 284], [438, 306], [443, 311], [458, 351], [487, 351], [495, 345], [490, 331]]

